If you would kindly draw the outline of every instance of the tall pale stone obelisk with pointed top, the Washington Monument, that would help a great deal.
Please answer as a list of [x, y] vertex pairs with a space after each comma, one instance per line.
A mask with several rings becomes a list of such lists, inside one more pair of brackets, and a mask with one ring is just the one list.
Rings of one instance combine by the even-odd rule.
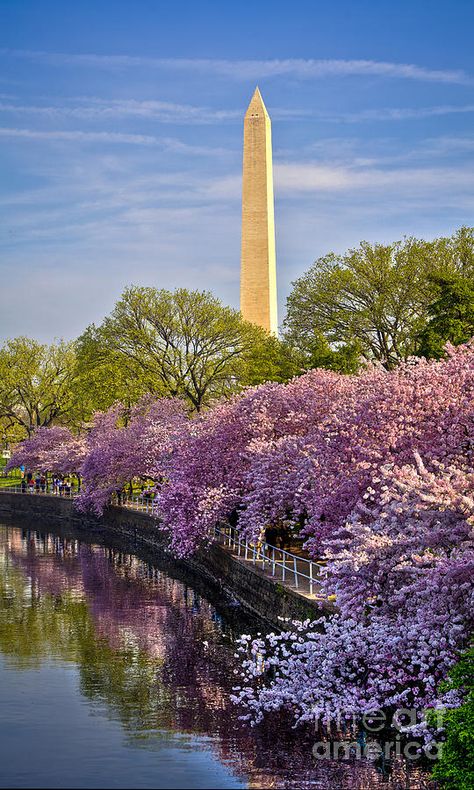
[[272, 126], [258, 88], [244, 119], [240, 311], [277, 334]]

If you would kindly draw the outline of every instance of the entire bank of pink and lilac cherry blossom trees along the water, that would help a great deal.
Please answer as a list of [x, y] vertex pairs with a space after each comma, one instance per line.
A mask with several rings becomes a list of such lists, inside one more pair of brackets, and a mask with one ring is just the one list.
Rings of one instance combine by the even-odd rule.
[[[79, 440], [61, 431], [38, 431], [11, 463], [50, 468], [63, 445], [73, 458]], [[180, 556], [219, 521], [255, 540], [286, 518], [325, 557], [334, 614], [242, 639], [235, 698], [249, 718], [437, 704], [473, 624], [473, 342], [392, 371], [311, 371], [194, 418], [174, 399], [119, 404], [96, 415], [86, 441], [82, 509], [101, 514], [132, 478], [152, 479]]]

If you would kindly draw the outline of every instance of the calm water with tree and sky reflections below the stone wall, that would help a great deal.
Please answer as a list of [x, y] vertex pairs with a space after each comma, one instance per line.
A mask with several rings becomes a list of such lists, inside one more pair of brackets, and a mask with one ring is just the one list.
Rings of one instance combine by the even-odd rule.
[[0, 524], [0, 787], [428, 787], [241, 722], [249, 621], [198, 587], [120, 547]]

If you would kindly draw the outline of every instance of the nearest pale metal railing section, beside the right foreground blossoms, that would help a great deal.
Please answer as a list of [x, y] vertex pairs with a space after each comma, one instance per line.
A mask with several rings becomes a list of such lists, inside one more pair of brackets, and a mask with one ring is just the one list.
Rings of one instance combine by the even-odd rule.
[[234, 527], [216, 527], [215, 532], [219, 542], [231, 548], [237, 557], [267, 570], [274, 578], [290, 584], [299, 592], [314, 595], [315, 588], [326, 573], [326, 567], [321, 563], [268, 543], [251, 543]]

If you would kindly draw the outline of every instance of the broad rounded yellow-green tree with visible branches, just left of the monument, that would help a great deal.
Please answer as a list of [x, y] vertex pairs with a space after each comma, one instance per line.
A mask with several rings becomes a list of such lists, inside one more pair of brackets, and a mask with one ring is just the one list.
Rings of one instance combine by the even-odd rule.
[[79, 338], [77, 353], [85, 386], [95, 381], [106, 401], [153, 392], [183, 397], [196, 411], [243, 386], [297, 370], [276, 338], [212, 294], [184, 288], [127, 288], [101, 326]]

